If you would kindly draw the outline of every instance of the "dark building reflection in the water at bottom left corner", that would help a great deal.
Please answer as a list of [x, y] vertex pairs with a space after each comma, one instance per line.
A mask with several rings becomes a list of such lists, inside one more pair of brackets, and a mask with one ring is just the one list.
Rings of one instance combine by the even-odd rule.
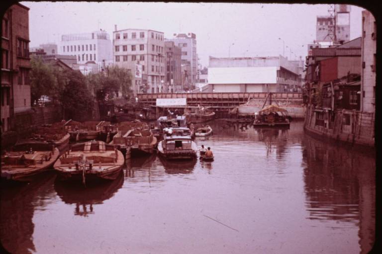
[[34, 211], [51, 202], [55, 177], [53, 172], [44, 172], [31, 183], [1, 181], [0, 239], [9, 253], [36, 252], [32, 238]]

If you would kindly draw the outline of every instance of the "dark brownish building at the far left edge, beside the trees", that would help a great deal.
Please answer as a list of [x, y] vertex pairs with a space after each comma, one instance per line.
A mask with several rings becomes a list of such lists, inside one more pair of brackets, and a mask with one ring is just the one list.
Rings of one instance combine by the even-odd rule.
[[15, 3], [2, 17], [1, 27], [1, 132], [28, 118], [29, 8]]

